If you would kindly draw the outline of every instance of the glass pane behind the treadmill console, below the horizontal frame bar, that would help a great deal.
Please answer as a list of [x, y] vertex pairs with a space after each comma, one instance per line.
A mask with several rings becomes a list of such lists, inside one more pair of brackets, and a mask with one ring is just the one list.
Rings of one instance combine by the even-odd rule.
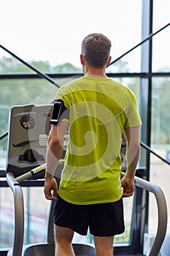
[[[0, 135], [8, 131], [9, 110], [14, 105], [45, 104], [55, 98], [58, 88], [46, 80], [0, 80]], [[0, 167], [6, 167], [7, 138], [0, 141]]]

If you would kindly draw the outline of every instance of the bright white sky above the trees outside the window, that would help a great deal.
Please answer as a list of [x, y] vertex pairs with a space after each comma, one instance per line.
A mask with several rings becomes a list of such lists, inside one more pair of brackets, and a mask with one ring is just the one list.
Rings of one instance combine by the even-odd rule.
[[[156, 31], [170, 22], [170, 1], [154, 2]], [[82, 39], [100, 32], [111, 39], [114, 60], [141, 41], [141, 10], [141, 0], [1, 0], [0, 44], [24, 61], [49, 61], [53, 66], [70, 62], [80, 67]], [[156, 36], [155, 63], [159, 57], [163, 65], [169, 64], [170, 56], [162, 53], [169, 49], [167, 33], [170, 28], [162, 32], [166, 39]], [[1, 56], [9, 55], [0, 48]], [[139, 71], [140, 48], [125, 58], [131, 71]]]

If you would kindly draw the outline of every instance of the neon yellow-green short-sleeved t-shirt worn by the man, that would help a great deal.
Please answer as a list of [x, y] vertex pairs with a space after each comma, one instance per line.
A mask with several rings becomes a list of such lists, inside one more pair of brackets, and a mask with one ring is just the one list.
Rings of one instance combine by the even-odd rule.
[[61, 86], [57, 98], [70, 111], [59, 195], [74, 204], [119, 200], [123, 129], [142, 124], [134, 94], [111, 78], [86, 76]]

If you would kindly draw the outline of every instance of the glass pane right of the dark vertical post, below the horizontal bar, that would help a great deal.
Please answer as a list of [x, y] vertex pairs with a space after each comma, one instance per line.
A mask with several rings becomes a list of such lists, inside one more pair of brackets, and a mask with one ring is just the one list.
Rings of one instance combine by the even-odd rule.
[[[151, 130], [151, 148], [158, 155], [170, 162], [170, 78], [152, 79], [152, 130]], [[158, 184], [166, 197], [166, 203], [169, 208], [169, 165], [164, 163], [153, 154], [150, 156], [150, 181]], [[169, 217], [168, 217], [169, 219]], [[155, 199], [150, 196], [150, 214], [149, 231], [155, 233], [158, 223], [158, 214], [156, 211]], [[167, 233], [170, 232], [168, 225]]]

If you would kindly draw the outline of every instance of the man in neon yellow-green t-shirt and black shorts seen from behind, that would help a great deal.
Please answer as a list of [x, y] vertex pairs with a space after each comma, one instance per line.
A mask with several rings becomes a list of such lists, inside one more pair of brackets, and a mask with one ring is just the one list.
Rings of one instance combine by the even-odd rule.
[[[142, 122], [134, 94], [105, 74], [110, 48], [111, 42], [103, 34], [85, 37], [80, 55], [85, 76], [58, 89], [57, 99], [66, 111], [61, 111], [63, 116], [50, 131], [44, 189], [48, 200], [57, 200], [55, 256], [73, 256], [74, 232], [86, 235], [88, 228], [96, 255], [111, 256], [114, 236], [124, 232], [122, 198], [134, 193]], [[69, 144], [58, 191], [53, 175], [68, 127]], [[120, 180], [123, 132], [128, 167]]]

